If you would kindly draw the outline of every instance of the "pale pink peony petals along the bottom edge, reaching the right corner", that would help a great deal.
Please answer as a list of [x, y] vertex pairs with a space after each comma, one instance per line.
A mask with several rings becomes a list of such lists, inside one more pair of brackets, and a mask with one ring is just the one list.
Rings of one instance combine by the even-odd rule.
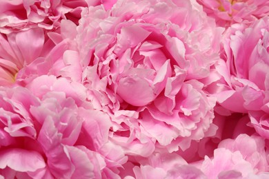
[[140, 167], [128, 165], [129, 178], [266, 178], [268, 161], [265, 141], [260, 136], [241, 134], [221, 141], [214, 156], [187, 163], [181, 156], [155, 153], [140, 160]]

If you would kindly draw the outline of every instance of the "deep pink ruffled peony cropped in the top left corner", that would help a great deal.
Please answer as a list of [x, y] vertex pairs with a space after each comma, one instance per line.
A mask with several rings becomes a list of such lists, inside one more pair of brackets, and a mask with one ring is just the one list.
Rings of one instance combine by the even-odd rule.
[[87, 3], [84, 0], [3, 0], [0, 6], [0, 32], [8, 34], [33, 27], [56, 30], [61, 19], [70, 19], [77, 23], [81, 8], [86, 7]]

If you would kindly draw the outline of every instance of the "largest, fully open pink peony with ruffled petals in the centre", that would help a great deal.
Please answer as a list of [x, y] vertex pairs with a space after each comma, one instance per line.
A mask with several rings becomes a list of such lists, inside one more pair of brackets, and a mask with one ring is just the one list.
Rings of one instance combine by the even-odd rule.
[[118, 1], [108, 11], [86, 8], [79, 23], [83, 83], [92, 102], [112, 112], [114, 143], [148, 156], [215, 134], [215, 98], [199, 79], [218, 59], [222, 29], [199, 4]]

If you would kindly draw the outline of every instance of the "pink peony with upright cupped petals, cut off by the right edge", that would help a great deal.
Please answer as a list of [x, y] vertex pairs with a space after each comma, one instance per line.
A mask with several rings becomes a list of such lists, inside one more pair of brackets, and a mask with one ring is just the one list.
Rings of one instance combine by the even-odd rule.
[[223, 39], [224, 61], [213, 70], [216, 77], [208, 91], [232, 112], [250, 115], [252, 126], [268, 138], [268, 17], [249, 27], [235, 24]]

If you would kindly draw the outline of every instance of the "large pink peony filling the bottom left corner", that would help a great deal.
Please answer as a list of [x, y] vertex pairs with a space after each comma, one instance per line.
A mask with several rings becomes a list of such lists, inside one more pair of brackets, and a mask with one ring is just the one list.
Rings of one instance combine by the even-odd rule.
[[90, 107], [83, 102], [86, 89], [54, 76], [40, 76], [28, 89], [1, 88], [0, 174], [5, 178], [117, 178], [112, 170], [126, 159], [117, 147], [113, 149], [117, 156], [109, 154], [113, 148], [107, 143], [109, 116], [80, 107]]

